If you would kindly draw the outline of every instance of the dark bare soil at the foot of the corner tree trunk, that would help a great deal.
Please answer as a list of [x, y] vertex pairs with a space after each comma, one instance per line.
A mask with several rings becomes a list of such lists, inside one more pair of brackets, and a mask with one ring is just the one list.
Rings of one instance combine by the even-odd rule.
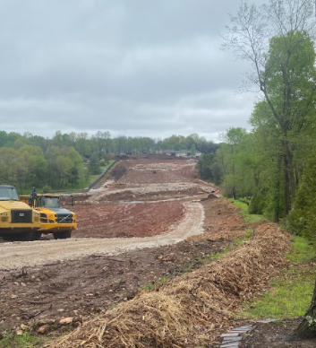
[[315, 348], [316, 339], [289, 342], [288, 337], [302, 318], [284, 319], [275, 323], [256, 324], [243, 338], [241, 348]]

